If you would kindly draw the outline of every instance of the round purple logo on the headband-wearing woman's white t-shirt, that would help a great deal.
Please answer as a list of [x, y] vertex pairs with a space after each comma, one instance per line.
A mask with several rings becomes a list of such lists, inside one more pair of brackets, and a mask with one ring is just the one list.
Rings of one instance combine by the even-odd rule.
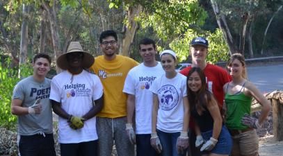
[[163, 85], [161, 89], [157, 90], [159, 97], [159, 105], [162, 110], [172, 110], [179, 101], [179, 94], [177, 89], [172, 85]]

